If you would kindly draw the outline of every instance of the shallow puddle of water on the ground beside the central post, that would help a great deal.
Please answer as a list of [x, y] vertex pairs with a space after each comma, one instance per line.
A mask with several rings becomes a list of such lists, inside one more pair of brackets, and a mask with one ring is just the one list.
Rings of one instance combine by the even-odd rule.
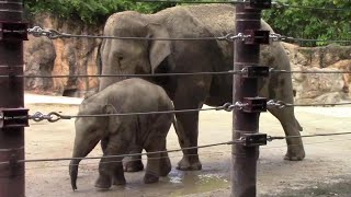
[[172, 171], [168, 177], [170, 183], [180, 185], [169, 194], [171, 197], [206, 193], [229, 186], [225, 177], [213, 173]]

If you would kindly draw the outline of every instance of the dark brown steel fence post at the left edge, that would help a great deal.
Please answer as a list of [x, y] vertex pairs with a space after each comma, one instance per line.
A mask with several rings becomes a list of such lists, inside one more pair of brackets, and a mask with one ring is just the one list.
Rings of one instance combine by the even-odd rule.
[[[7, 40], [4, 26], [22, 23], [23, 0], [0, 1], [0, 108], [20, 108], [24, 105], [23, 40]], [[0, 129], [0, 196], [24, 197], [24, 128]], [[9, 162], [3, 164], [2, 162]]]

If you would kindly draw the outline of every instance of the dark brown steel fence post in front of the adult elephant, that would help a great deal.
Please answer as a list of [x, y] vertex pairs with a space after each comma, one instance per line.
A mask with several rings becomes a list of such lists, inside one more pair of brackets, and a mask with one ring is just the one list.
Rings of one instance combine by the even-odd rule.
[[[236, 34], [246, 30], [259, 30], [261, 26], [261, 11], [246, 9], [242, 3], [236, 5]], [[245, 66], [259, 62], [260, 45], [245, 44], [236, 39], [234, 44], [234, 70], [241, 70]], [[258, 95], [258, 79], [234, 76], [233, 102], [242, 101], [244, 97]], [[259, 129], [259, 113], [245, 113], [234, 111], [233, 113], [233, 140], [238, 140], [241, 134], [254, 134]], [[246, 148], [240, 143], [233, 146], [231, 159], [231, 196], [254, 197], [258, 147]]]

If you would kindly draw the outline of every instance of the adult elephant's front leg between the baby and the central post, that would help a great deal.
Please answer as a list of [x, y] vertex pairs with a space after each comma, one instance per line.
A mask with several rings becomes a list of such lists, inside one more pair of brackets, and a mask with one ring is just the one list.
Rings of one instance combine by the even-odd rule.
[[[176, 114], [176, 131], [181, 148], [197, 147], [199, 113]], [[202, 164], [199, 159], [197, 149], [183, 150], [183, 158], [178, 162], [178, 170], [199, 171]]]

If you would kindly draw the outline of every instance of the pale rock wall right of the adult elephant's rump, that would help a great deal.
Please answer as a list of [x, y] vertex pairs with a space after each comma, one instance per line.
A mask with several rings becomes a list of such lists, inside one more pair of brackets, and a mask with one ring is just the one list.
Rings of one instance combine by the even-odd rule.
[[[351, 71], [351, 46], [298, 47], [284, 43], [292, 70]], [[350, 73], [294, 73], [295, 102], [336, 103], [350, 100]]]

